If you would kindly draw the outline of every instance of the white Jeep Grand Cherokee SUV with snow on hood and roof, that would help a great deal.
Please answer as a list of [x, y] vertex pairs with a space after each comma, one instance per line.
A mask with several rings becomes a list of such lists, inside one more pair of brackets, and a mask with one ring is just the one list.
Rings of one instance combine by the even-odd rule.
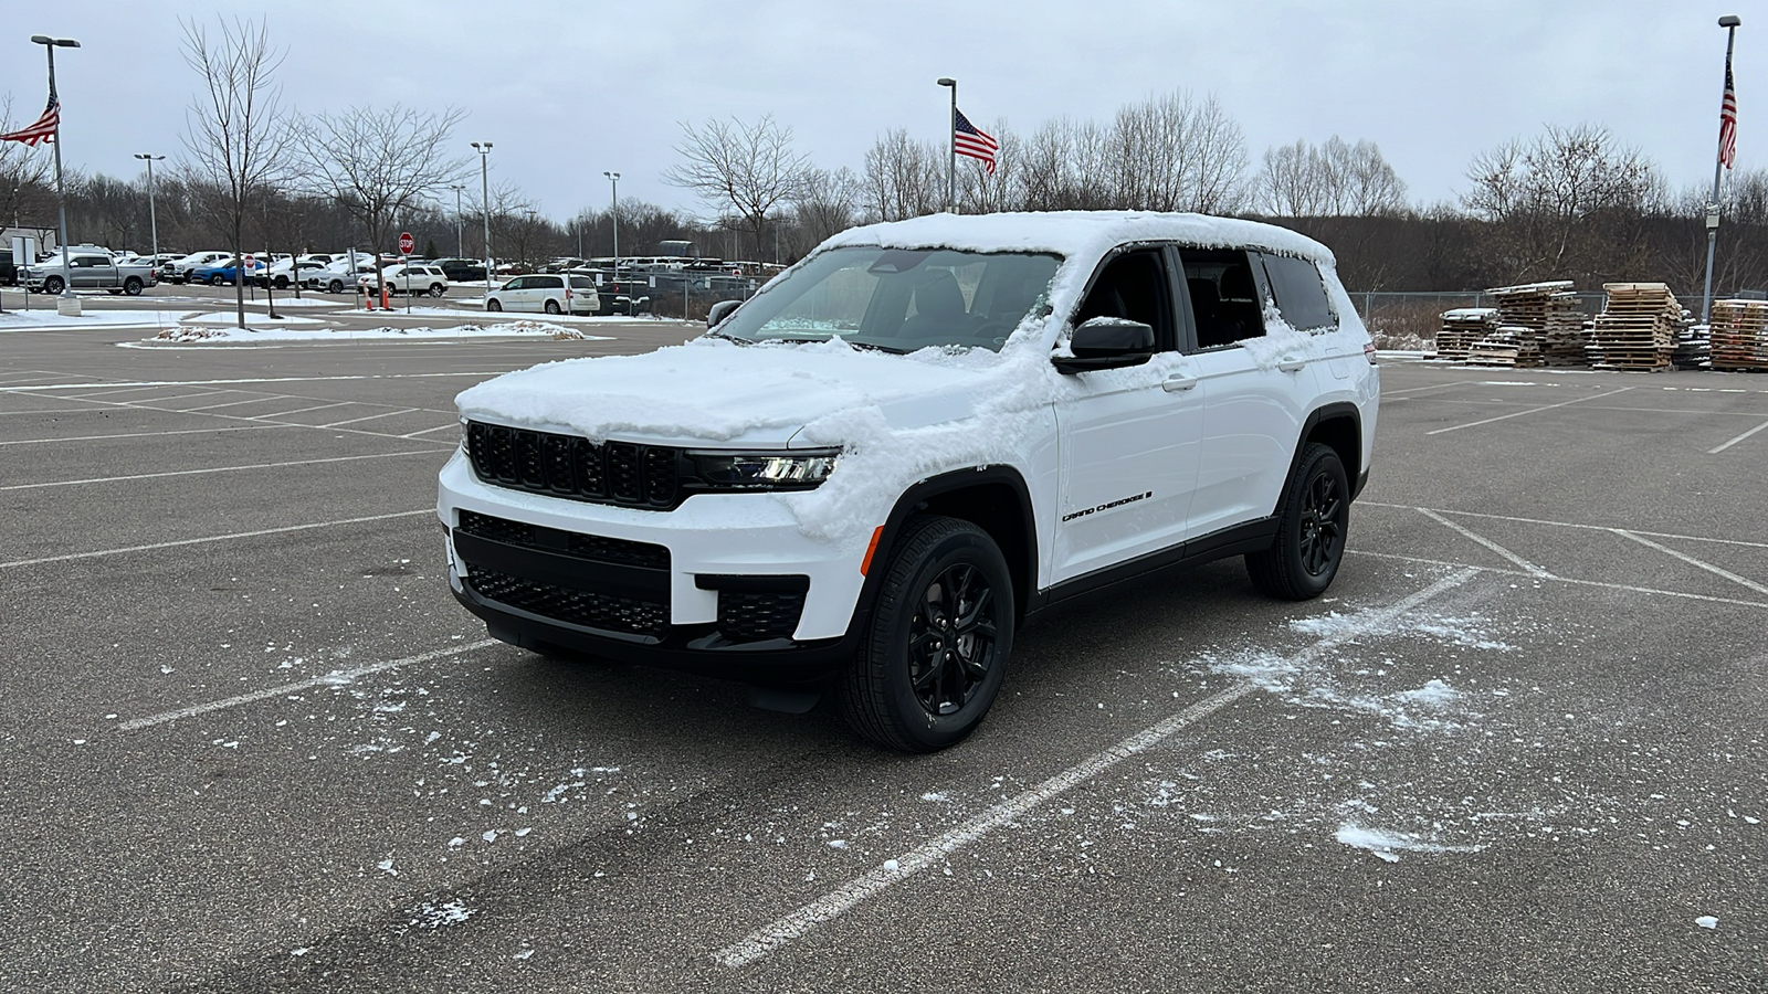
[[1377, 394], [1331, 253], [1284, 228], [854, 228], [686, 345], [461, 393], [449, 584], [506, 642], [781, 707], [836, 686], [856, 730], [928, 752], [1061, 601], [1227, 555], [1322, 593]]

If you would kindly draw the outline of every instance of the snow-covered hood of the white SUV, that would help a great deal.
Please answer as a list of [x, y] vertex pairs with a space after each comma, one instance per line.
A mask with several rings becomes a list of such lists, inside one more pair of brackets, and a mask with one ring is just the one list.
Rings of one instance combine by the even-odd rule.
[[456, 398], [465, 417], [568, 430], [592, 440], [812, 446], [842, 440], [879, 417], [893, 430], [956, 421], [997, 393], [994, 352], [912, 356], [857, 350], [840, 340], [739, 345], [698, 338], [645, 356], [568, 359], [507, 373]]

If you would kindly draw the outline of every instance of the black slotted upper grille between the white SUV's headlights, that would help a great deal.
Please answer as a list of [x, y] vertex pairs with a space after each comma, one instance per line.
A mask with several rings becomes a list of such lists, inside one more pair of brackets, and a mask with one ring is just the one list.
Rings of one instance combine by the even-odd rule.
[[594, 444], [576, 435], [467, 423], [467, 456], [486, 483], [629, 508], [672, 509], [681, 488], [681, 449], [633, 442]]

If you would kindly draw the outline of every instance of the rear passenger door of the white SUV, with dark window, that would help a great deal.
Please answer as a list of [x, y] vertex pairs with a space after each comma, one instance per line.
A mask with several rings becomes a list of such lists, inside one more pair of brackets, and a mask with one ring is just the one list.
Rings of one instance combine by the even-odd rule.
[[1179, 249], [1179, 258], [1197, 324], [1192, 361], [1204, 393], [1186, 529], [1186, 538], [1197, 539], [1276, 511], [1319, 387], [1305, 340], [1266, 327], [1266, 308], [1275, 301], [1261, 253]]

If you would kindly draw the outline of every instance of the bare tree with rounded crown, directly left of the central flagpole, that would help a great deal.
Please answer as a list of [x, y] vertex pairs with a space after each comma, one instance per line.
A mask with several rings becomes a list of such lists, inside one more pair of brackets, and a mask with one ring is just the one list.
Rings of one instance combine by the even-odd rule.
[[797, 196], [810, 170], [810, 159], [792, 149], [792, 129], [762, 115], [753, 124], [713, 119], [698, 129], [682, 122], [681, 131], [675, 152], [686, 161], [663, 170], [663, 182], [716, 207], [728, 203], [753, 232], [760, 256], [767, 212]]

